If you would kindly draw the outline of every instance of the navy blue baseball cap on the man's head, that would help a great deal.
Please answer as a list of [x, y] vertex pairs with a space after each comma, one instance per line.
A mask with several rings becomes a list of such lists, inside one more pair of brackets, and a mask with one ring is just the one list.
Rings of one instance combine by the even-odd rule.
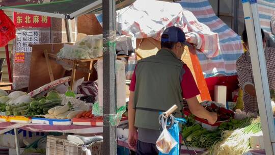
[[161, 35], [161, 42], [181, 42], [185, 45], [191, 46], [186, 42], [185, 33], [178, 27], [169, 27]]

